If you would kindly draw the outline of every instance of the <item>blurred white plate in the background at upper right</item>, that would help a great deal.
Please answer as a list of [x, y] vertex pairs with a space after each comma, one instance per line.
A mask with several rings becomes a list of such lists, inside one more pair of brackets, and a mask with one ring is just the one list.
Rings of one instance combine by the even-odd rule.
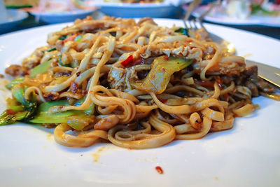
[[[204, 13], [204, 11], [207, 11], [208, 8], [209, 6], [200, 6], [193, 12], [193, 15], [198, 17]], [[204, 17], [204, 20], [226, 25], [263, 25], [269, 27], [280, 27], [280, 16], [251, 15], [249, 18], [241, 20], [232, 18], [226, 13], [212, 11], [209, 15]]]

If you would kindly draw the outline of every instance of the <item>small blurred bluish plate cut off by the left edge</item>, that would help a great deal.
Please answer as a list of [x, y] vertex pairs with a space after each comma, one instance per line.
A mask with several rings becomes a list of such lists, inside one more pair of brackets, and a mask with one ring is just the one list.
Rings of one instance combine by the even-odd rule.
[[18, 10], [7, 10], [8, 20], [5, 22], [0, 22], [0, 34], [3, 32], [8, 32], [13, 27], [19, 25], [25, 18], [28, 17], [28, 14], [25, 11]]

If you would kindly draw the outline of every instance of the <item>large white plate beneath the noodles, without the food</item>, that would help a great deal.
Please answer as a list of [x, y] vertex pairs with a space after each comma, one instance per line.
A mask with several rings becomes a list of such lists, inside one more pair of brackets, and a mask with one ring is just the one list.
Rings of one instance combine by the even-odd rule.
[[[182, 25], [180, 20], [155, 20]], [[1, 72], [20, 63], [47, 34], [51, 25], [0, 37]], [[280, 41], [237, 29], [206, 25], [234, 42], [239, 55], [280, 67]], [[28, 39], [28, 42], [26, 42]], [[260, 47], [265, 46], [265, 47]], [[15, 50], [16, 48], [16, 50]], [[2, 97], [0, 97], [2, 98]], [[5, 109], [3, 98], [1, 111]], [[280, 102], [258, 97], [260, 109], [236, 118], [232, 130], [203, 139], [173, 141], [160, 148], [128, 150], [112, 144], [69, 148], [57, 144], [52, 130], [17, 123], [0, 127], [1, 186], [277, 186], [280, 183]], [[164, 174], [158, 174], [156, 166]]]

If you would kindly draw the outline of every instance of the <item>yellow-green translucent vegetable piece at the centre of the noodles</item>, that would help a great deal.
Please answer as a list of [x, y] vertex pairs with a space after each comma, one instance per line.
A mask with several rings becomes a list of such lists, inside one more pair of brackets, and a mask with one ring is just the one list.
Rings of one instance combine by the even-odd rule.
[[131, 82], [137, 90], [160, 94], [165, 91], [169, 80], [176, 71], [180, 71], [193, 63], [193, 60], [183, 60], [176, 57], [161, 56], [151, 64], [151, 71], [141, 81]]

